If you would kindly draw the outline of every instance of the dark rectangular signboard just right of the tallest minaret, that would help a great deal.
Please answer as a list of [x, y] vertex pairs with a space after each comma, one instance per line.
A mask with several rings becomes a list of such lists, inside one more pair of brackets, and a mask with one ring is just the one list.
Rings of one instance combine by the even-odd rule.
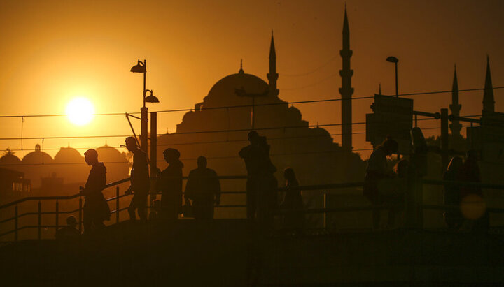
[[413, 126], [413, 100], [395, 96], [374, 95], [374, 113], [366, 114], [366, 141], [376, 147], [387, 135], [399, 144], [399, 154], [411, 151], [410, 131]]

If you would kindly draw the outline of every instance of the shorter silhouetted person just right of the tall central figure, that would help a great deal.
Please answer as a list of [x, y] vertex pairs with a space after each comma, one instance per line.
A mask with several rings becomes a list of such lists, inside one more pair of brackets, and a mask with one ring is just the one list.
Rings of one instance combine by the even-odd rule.
[[[299, 189], [292, 189], [299, 187], [299, 182], [295, 176], [292, 168], [286, 168], [283, 171], [283, 178], [286, 179], [287, 191], [283, 197], [281, 208], [289, 210], [304, 209], [302, 201], [302, 192]], [[283, 226], [286, 230], [300, 233], [304, 227], [304, 214], [302, 212], [290, 212], [283, 216]]]

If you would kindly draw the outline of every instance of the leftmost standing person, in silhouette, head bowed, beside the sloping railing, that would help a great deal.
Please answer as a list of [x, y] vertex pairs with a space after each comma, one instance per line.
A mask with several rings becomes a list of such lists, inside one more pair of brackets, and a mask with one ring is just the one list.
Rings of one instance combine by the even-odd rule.
[[98, 153], [94, 149], [87, 149], [84, 157], [85, 163], [92, 166], [85, 187], [80, 186], [80, 194], [85, 198], [84, 233], [89, 234], [105, 228], [103, 221], [110, 219], [110, 208], [102, 193], [106, 186], [105, 165], [98, 162]]

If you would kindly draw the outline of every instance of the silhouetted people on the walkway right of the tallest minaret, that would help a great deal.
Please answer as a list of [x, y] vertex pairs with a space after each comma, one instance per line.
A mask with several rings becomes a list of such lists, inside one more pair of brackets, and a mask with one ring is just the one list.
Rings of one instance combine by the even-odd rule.
[[[388, 209], [385, 228], [395, 227], [396, 214], [405, 206], [406, 196], [412, 187], [408, 182], [412, 169], [406, 159], [387, 167], [387, 157], [398, 152], [398, 142], [388, 137], [374, 149], [367, 161], [363, 193], [372, 204], [372, 226], [381, 228], [381, 209]], [[489, 228], [489, 213], [486, 212], [481, 188], [464, 185], [463, 182], [481, 182], [477, 152], [471, 149], [466, 159], [454, 156], [444, 172], [444, 221], [451, 230], [479, 230]]]

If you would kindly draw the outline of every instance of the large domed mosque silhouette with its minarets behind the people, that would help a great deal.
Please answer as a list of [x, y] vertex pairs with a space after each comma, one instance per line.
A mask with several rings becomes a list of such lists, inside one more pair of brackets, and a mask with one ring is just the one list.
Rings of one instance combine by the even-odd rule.
[[[348, 32], [346, 17], [344, 22]], [[342, 56], [346, 59], [342, 70], [344, 88], [340, 89], [346, 98], [353, 92], [349, 80], [351, 51], [348, 35], [346, 33], [346, 46], [342, 50]], [[175, 133], [167, 133], [158, 138], [158, 155], [162, 155], [167, 147], [179, 149], [181, 161], [185, 165], [184, 175], [196, 168], [198, 156], [207, 156], [209, 168], [216, 170], [219, 175], [246, 175], [238, 152], [248, 145], [248, 131], [255, 129], [260, 135], [267, 136], [267, 142], [271, 145], [272, 163], [277, 168], [275, 175], [280, 179], [280, 184], [283, 184], [281, 172], [287, 167], [296, 170], [301, 184], [360, 181], [364, 175], [365, 163], [359, 154], [351, 152], [351, 135], [350, 142], [346, 141], [349, 148], [344, 149], [333, 142], [328, 131], [302, 119], [300, 110], [279, 98], [281, 87], [277, 86], [278, 78], [272, 35], [268, 82], [246, 73], [246, 67], [241, 64], [237, 73], [218, 80], [203, 101], [196, 103], [194, 110], [183, 115]], [[346, 101], [344, 108], [351, 109], [350, 102]], [[221, 108], [228, 106], [240, 107]], [[345, 115], [345, 131], [351, 133], [351, 112], [346, 112]], [[162, 157], [158, 156], [158, 166], [163, 169], [166, 165]], [[223, 190], [245, 189], [244, 182], [240, 181], [228, 180], [222, 184]], [[310, 194], [313, 195], [312, 198], [305, 202], [313, 207], [322, 207], [322, 194]], [[238, 211], [220, 209], [216, 210], [216, 216], [225, 216], [227, 212]]]

